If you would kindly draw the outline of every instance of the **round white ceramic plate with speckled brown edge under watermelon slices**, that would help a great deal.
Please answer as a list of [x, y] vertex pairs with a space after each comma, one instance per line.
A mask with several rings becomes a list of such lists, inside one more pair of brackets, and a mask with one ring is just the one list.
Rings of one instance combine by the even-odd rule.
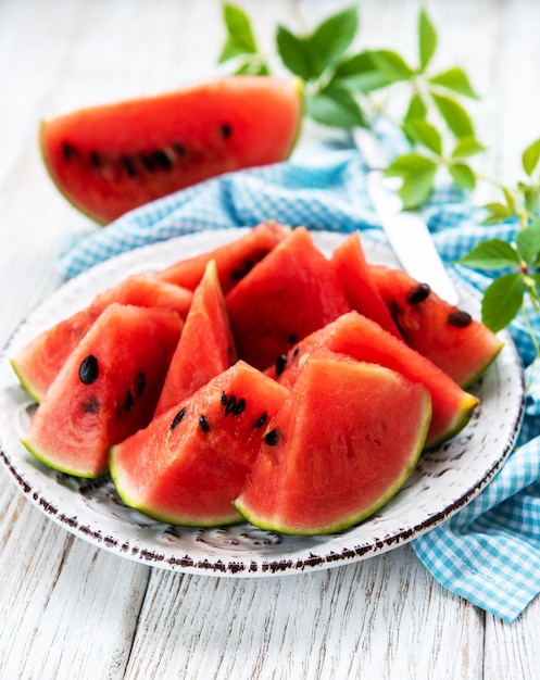
[[[126, 253], [65, 284], [18, 327], [0, 356], [0, 456], [26, 498], [75, 536], [117, 555], [165, 569], [228, 577], [311, 571], [364, 559], [402, 545], [470, 501], [502, 465], [520, 426], [523, 370], [505, 332], [504, 350], [472, 389], [481, 406], [467, 427], [439, 450], [423, 454], [404, 488], [379, 513], [340, 533], [286, 537], [248, 524], [218, 529], [171, 527], [126, 507], [109, 479], [76, 479], [47, 468], [27, 453], [20, 438], [33, 404], [10, 357], [40, 330], [128, 274], [210, 250], [242, 231], [200, 232]], [[313, 236], [327, 253], [344, 238], [330, 232]], [[386, 247], [368, 240], [363, 244], [368, 261], [395, 265]], [[456, 284], [462, 306], [478, 317], [478, 295]]]

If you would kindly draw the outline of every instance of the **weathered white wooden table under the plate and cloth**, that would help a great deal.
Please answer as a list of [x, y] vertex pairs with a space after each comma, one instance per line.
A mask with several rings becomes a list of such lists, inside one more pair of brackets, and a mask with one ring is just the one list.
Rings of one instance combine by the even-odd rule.
[[[344, 7], [243, 0], [262, 46]], [[364, 0], [364, 46], [413, 56], [416, 0]], [[461, 63], [489, 169], [540, 136], [540, 3], [431, 0], [441, 66]], [[55, 191], [39, 119], [216, 74], [214, 0], [0, 0], [0, 341], [60, 282], [61, 241], [89, 223]], [[59, 528], [0, 471], [0, 677], [25, 679], [540, 677], [540, 600], [504, 625], [444, 591], [402, 546], [303, 576], [151, 568]]]

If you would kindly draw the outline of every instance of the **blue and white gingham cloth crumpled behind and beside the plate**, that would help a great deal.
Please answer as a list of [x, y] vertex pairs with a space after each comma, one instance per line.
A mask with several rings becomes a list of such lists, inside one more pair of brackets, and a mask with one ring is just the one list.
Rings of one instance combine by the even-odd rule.
[[[72, 277], [140, 245], [269, 218], [311, 229], [360, 229], [384, 241], [364, 191], [365, 172], [349, 138], [300, 147], [288, 162], [211, 179], [66, 243], [59, 267]], [[462, 198], [441, 190], [424, 210], [448, 263], [482, 239], [512, 239], [517, 228], [513, 223], [481, 226], [477, 211]], [[484, 273], [461, 268], [460, 274], [479, 290], [490, 281]], [[538, 314], [532, 318], [540, 335]], [[513, 323], [511, 332], [529, 366], [535, 349], [523, 320]], [[506, 621], [516, 619], [540, 593], [539, 372], [529, 379], [518, 445], [499, 474], [466, 507], [413, 541], [417, 556], [438, 581]]]

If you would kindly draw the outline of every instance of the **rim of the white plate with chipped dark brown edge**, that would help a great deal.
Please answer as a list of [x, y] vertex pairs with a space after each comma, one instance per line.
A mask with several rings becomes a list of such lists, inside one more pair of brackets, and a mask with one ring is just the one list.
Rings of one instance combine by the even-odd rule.
[[[214, 239], [218, 239], [221, 242], [226, 242], [228, 240], [233, 240], [234, 238], [241, 236], [246, 231], [248, 231], [250, 227], [240, 227], [234, 229], [216, 229], [216, 230], [200, 230], [194, 231], [189, 235], [174, 237], [173, 239], [166, 239], [164, 241], [159, 241], [155, 243], [142, 245], [140, 248], [136, 248], [124, 252], [120, 255], [111, 257], [95, 267], [83, 272], [80, 275], [64, 281], [60, 287], [53, 290], [51, 293], [46, 295], [25, 317], [21, 320], [21, 323], [16, 326], [14, 331], [11, 333], [7, 343], [2, 348], [0, 352], [0, 367], [2, 367], [5, 363], [9, 363], [9, 350], [13, 344], [16, 344], [17, 338], [21, 335], [24, 336], [24, 328], [32, 324], [32, 320], [36, 315], [39, 315], [42, 312], [43, 307], [47, 305], [51, 306], [55, 300], [65, 297], [66, 292], [68, 293], [72, 289], [77, 290], [80, 286], [85, 286], [87, 281], [92, 282], [93, 279], [100, 277], [100, 274], [111, 274], [117, 275], [118, 278], [126, 276], [125, 269], [130, 266], [136, 266], [135, 272], [140, 272], [140, 264], [142, 264], [142, 260], [145, 259], [145, 254], [147, 252], [155, 253], [160, 252], [160, 249], [171, 248], [175, 242], [180, 242], [181, 244], [187, 244], [189, 247], [193, 247], [193, 242], [197, 244], [198, 241], [212, 236]], [[311, 231], [314, 240], [322, 241], [323, 245], [319, 247], [324, 250], [324, 241], [329, 241], [334, 247], [339, 242], [339, 240], [344, 239], [348, 234], [346, 232], [337, 232], [337, 231]], [[385, 254], [390, 259], [392, 264], [395, 266], [397, 261], [394, 262], [394, 257], [392, 255], [389, 247], [381, 241], [377, 241], [372, 239], [368, 235], [362, 234], [363, 244], [367, 243], [366, 250], [379, 250], [379, 254]], [[222, 241], [223, 239], [223, 241]], [[199, 251], [203, 252], [203, 251]], [[193, 253], [196, 254], [196, 253]], [[189, 255], [189, 254], [188, 254]], [[178, 260], [178, 256], [172, 259]], [[141, 261], [141, 262], [139, 262]], [[166, 264], [166, 263], [165, 263]], [[466, 291], [468, 295], [479, 297], [478, 291], [476, 291], [470, 285], [463, 279], [459, 278], [453, 272], [451, 275], [455, 279], [459, 287]], [[116, 279], [118, 280], [118, 279]], [[110, 285], [109, 282], [106, 285]], [[97, 292], [97, 291], [95, 291]], [[91, 293], [90, 293], [91, 294]], [[237, 559], [230, 559], [229, 562], [224, 562], [223, 558], [217, 558], [215, 561], [212, 559], [194, 559], [190, 557], [187, 553], [185, 555], [174, 557], [173, 555], [166, 556], [165, 552], [159, 553], [155, 550], [146, 550], [142, 544], [130, 544], [129, 541], [117, 540], [114, 536], [109, 536], [100, 530], [95, 530], [90, 526], [86, 526], [80, 524], [77, 518], [71, 516], [70, 514], [59, 512], [59, 508], [55, 506], [55, 502], [47, 499], [42, 492], [41, 488], [36, 487], [30, 482], [27, 477], [24, 475], [24, 470], [21, 470], [16, 465], [16, 461], [12, 459], [10, 453], [7, 451], [7, 446], [4, 445], [4, 438], [2, 432], [0, 431], [0, 461], [2, 466], [7, 468], [9, 473], [9, 477], [15, 482], [20, 491], [38, 509], [40, 509], [49, 519], [52, 519], [56, 525], [66, 529], [68, 532], [81, 538], [83, 540], [93, 544], [97, 547], [104, 549], [109, 552], [112, 552], [118, 556], [127, 557], [131, 561], [138, 562], [140, 564], [145, 564], [147, 566], [158, 566], [169, 570], [176, 570], [187, 574], [206, 574], [213, 576], [225, 576], [225, 577], [265, 577], [265, 576], [278, 576], [278, 575], [288, 575], [288, 574], [300, 574], [305, 572], [306, 570], [317, 570], [317, 569], [327, 569], [336, 566], [341, 566], [343, 564], [350, 564], [353, 562], [359, 562], [361, 559], [367, 558], [369, 556], [381, 554], [384, 552], [388, 552], [398, 547], [399, 545], [403, 545], [412, 541], [413, 539], [418, 538], [423, 533], [429, 531], [435, 528], [442, 521], [449, 519], [452, 515], [459, 512], [462, 507], [464, 507], [467, 503], [469, 503], [480, 491], [492, 480], [494, 475], [499, 471], [499, 469], [504, 464], [505, 459], [510, 455], [511, 451], [514, 448], [515, 440], [517, 438], [523, 417], [525, 411], [525, 378], [523, 372], [523, 365], [515, 347], [515, 343], [512, 339], [512, 336], [507, 330], [501, 331], [500, 336], [504, 340], [505, 348], [503, 350], [506, 353], [512, 354], [512, 358], [514, 363], [518, 363], [519, 370], [519, 394], [516, 399], [516, 404], [514, 405], [514, 413], [512, 424], [508, 424], [508, 429], [512, 429], [512, 433], [508, 435], [506, 439], [505, 445], [500, 452], [500, 455], [497, 459], [492, 462], [491, 467], [486, 470], [484, 477], [477, 481], [467, 490], [466, 493], [463, 493], [457, 499], [455, 499], [450, 505], [429, 514], [425, 517], [424, 520], [415, 524], [414, 526], [409, 526], [406, 528], [402, 528], [401, 530], [394, 532], [392, 536], [381, 537], [379, 540], [372, 541], [371, 543], [362, 543], [351, 541], [350, 547], [343, 547], [341, 552], [335, 552], [326, 550], [323, 551], [323, 554], [319, 554], [321, 551], [317, 552], [317, 545], [314, 546], [314, 550], [310, 552], [310, 554], [305, 558], [298, 558], [294, 561], [291, 557], [287, 559], [261, 559], [259, 562], [251, 561], [248, 564], [247, 559], [242, 561], [242, 553], [238, 553]], [[3, 415], [0, 416], [0, 423], [2, 421]], [[51, 473], [55, 474], [55, 473]], [[110, 482], [110, 480], [109, 480]], [[105, 483], [109, 483], [105, 481]], [[147, 518], [148, 519], [148, 518]], [[367, 522], [369, 519], [366, 520]], [[244, 524], [244, 522], [242, 522]], [[99, 522], [98, 522], [99, 525]], [[167, 525], [162, 525], [166, 527]], [[240, 525], [236, 525], [237, 527]], [[248, 525], [251, 527], [251, 525]], [[225, 529], [229, 529], [226, 527]], [[352, 528], [354, 529], [354, 528]], [[268, 533], [268, 532], [266, 532]], [[276, 532], [269, 532], [276, 533]], [[342, 532], [336, 534], [327, 534], [323, 537], [323, 542], [321, 543], [321, 547], [325, 546], [325, 543], [331, 543], [331, 538], [343, 536]], [[291, 538], [291, 537], [287, 537]], [[327, 539], [327, 540], [325, 540]], [[327, 546], [328, 547], [328, 546]], [[331, 547], [331, 545], [330, 545]], [[183, 552], [181, 550], [178, 552]]]

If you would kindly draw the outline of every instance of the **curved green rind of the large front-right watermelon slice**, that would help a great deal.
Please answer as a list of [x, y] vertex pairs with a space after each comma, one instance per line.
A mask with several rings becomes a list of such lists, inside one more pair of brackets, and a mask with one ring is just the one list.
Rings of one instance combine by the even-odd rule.
[[418, 459], [424, 451], [424, 443], [426, 441], [427, 432], [429, 430], [429, 424], [431, 420], [431, 400], [429, 394], [426, 394], [426, 406], [423, 412], [424, 423], [418, 426], [418, 438], [416, 446], [413, 448], [409, 458], [406, 459], [404, 469], [399, 478], [395, 479], [394, 484], [389, 488], [381, 496], [368, 507], [363, 508], [361, 512], [341, 517], [335, 522], [324, 526], [315, 527], [312, 529], [304, 529], [300, 527], [290, 527], [280, 524], [279, 521], [265, 519], [264, 517], [258, 517], [253, 509], [247, 507], [241, 501], [241, 494], [238, 499], [233, 501], [233, 506], [240, 513], [240, 515], [258, 529], [264, 529], [266, 531], [277, 531], [287, 536], [323, 536], [328, 533], [336, 533], [349, 529], [364, 519], [372, 517], [377, 511], [381, 509], [404, 486], [406, 480], [411, 477], [416, 468]]

